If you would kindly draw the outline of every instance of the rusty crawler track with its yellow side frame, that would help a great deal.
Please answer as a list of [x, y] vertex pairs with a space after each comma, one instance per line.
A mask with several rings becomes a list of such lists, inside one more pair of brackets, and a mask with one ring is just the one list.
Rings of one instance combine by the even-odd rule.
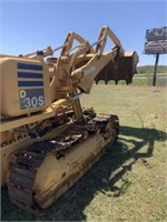
[[11, 202], [37, 215], [91, 168], [118, 131], [118, 118], [101, 114], [88, 122], [69, 123], [57, 137], [13, 153], [7, 182]]

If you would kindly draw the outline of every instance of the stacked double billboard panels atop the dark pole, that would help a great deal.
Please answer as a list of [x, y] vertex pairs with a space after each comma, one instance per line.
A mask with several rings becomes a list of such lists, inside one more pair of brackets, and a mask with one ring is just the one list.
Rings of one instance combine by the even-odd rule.
[[147, 29], [144, 53], [166, 54], [167, 53], [167, 27]]

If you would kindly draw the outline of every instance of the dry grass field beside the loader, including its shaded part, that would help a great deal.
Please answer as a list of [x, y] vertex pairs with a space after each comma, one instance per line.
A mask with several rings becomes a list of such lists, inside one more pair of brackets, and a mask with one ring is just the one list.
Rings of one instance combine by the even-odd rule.
[[[38, 221], [165, 222], [167, 216], [166, 89], [94, 85], [84, 107], [117, 114], [118, 142]], [[36, 220], [2, 189], [2, 220]]]

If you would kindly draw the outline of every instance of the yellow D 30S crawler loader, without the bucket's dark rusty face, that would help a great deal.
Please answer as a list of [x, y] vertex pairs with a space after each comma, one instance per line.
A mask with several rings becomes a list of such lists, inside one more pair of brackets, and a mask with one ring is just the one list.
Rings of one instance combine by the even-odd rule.
[[[107, 39], [115, 46], [104, 52]], [[55, 58], [57, 50], [60, 56]], [[62, 47], [55, 50], [0, 54], [1, 185], [7, 184], [13, 204], [38, 214], [117, 139], [118, 117], [84, 110], [79, 99], [90, 93], [106, 65], [121, 73], [118, 59], [136, 69], [137, 53], [125, 51], [109, 27], [101, 28], [94, 46], [69, 32]]]

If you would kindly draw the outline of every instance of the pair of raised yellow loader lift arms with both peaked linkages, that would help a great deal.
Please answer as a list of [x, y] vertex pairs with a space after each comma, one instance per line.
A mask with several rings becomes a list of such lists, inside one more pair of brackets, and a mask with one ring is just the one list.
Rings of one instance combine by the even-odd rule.
[[[108, 53], [104, 53], [107, 38], [115, 43], [115, 47]], [[75, 39], [78, 40], [80, 44], [77, 51], [70, 56], [70, 52], [73, 50], [72, 43]], [[72, 98], [78, 95], [78, 90], [81, 93], [90, 93], [95, 78], [99, 71], [109, 62], [114, 62], [116, 57], [124, 56], [124, 48], [109, 27], [101, 28], [95, 50], [88, 41], [75, 32], [67, 36], [63, 46], [55, 72], [58, 74], [60, 71], [59, 75], [62, 75], [62, 68], [66, 70], [65, 75], [67, 81], [63, 81], [63, 89], [66, 89], [67, 93]], [[65, 61], [67, 62], [67, 67], [65, 65]], [[56, 81], [55, 78], [55, 82], [52, 81], [51, 83], [52, 90], [55, 90]], [[60, 85], [60, 83], [58, 85]], [[82, 109], [79, 99], [76, 99], [72, 105], [76, 118], [82, 119]]]

